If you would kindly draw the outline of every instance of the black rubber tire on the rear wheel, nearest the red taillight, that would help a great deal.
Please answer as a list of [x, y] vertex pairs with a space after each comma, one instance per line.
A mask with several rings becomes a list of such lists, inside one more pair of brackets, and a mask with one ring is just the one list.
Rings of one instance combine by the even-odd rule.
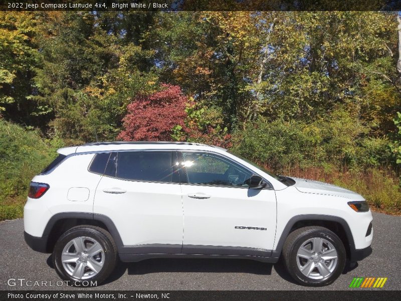
[[[94, 239], [101, 245], [103, 249], [102, 255], [97, 255], [97, 256], [99, 256], [100, 258], [100, 256], [103, 256], [104, 254], [104, 258], [101, 258], [100, 260], [103, 262], [103, 266], [98, 271], [98, 273], [85, 279], [79, 279], [70, 275], [62, 263], [63, 249], [74, 238], [78, 237], [87, 237]], [[84, 241], [85, 243], [90, 243], [87, 240]], [[106, 230], [95, 226], [83, 225], [71, 228], [70, 230], [68, 230], [63, 235], [60, 236], [60, 238], [56, 242], [53, 251], [53, 266], [55, 267], [59, 276], [63, 280], [67, 280], [68, 281], [67, 283], [69, 285], [73, 286], [93, 286], [101, 284], [113, 271], [114, 267], [116, 266], [116, 263], [117, 263], [117, 247], [114, 243], [112, 236]], [[74, 264], [75, 263], [72, 263], [72, 265], [70, 266], [73, 267]], [[86, 265], [87, 263], [85, 262], [85, 266]], [[84, 269], [88, 270], [89, 267], [85, 267]], [[90, 269], [88, 271], [90, 272]]]

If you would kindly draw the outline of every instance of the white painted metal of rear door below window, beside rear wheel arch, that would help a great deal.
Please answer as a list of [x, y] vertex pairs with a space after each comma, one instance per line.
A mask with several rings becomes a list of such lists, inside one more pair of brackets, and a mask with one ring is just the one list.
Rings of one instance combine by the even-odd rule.
[[[126, 192], [112, 194], [103, 191], [115, 188]], [[182, 244], [179, 184], [103, 177], [96, 189], [93, 212], [111, 218], [124, 245]]]

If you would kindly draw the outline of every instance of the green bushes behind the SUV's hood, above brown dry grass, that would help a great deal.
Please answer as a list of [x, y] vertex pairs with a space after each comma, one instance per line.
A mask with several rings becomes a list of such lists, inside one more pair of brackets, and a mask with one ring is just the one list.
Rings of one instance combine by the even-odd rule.
[[312, 123], [259, 118], [233, 135], [233, 150], [280, 171], [285, 166], [391, 166], [385, 137], [368, 137], [369, 127], [338, 109]]

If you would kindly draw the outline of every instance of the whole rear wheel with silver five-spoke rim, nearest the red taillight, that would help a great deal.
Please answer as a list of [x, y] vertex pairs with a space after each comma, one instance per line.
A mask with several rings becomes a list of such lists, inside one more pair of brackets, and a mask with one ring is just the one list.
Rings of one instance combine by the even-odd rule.
[[117, 247], [110, 233], [95, 226], [77, 226], [65, 232], [53, 251], [59, 276], [76, 286], [99, 285], [113, 271]]

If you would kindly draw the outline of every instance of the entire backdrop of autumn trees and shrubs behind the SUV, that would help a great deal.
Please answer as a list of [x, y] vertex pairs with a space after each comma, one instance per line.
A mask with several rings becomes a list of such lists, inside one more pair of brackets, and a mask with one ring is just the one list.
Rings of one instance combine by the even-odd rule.
[[399, 214], [399, 26], [396, 12], [0, 12], [2, 218], [56, 145], [110, 140], [220, 145]]

